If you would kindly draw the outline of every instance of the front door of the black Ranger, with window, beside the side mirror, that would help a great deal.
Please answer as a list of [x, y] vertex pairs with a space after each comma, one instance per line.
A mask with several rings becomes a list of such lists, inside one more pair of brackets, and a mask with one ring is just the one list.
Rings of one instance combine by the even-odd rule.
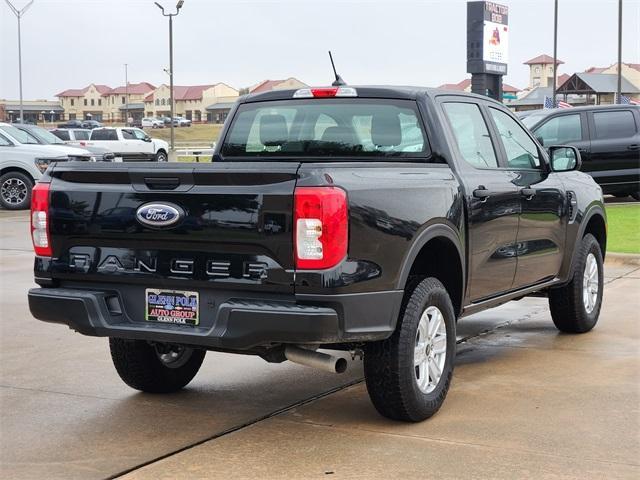
[[513, 288], [522, 288], [550, 280], [560, 271], [566, 194], [558, 174], [549, 171], [528, 131], [504, 110], [488, 110], [500, 138], [506, 172], [520, 197]]

